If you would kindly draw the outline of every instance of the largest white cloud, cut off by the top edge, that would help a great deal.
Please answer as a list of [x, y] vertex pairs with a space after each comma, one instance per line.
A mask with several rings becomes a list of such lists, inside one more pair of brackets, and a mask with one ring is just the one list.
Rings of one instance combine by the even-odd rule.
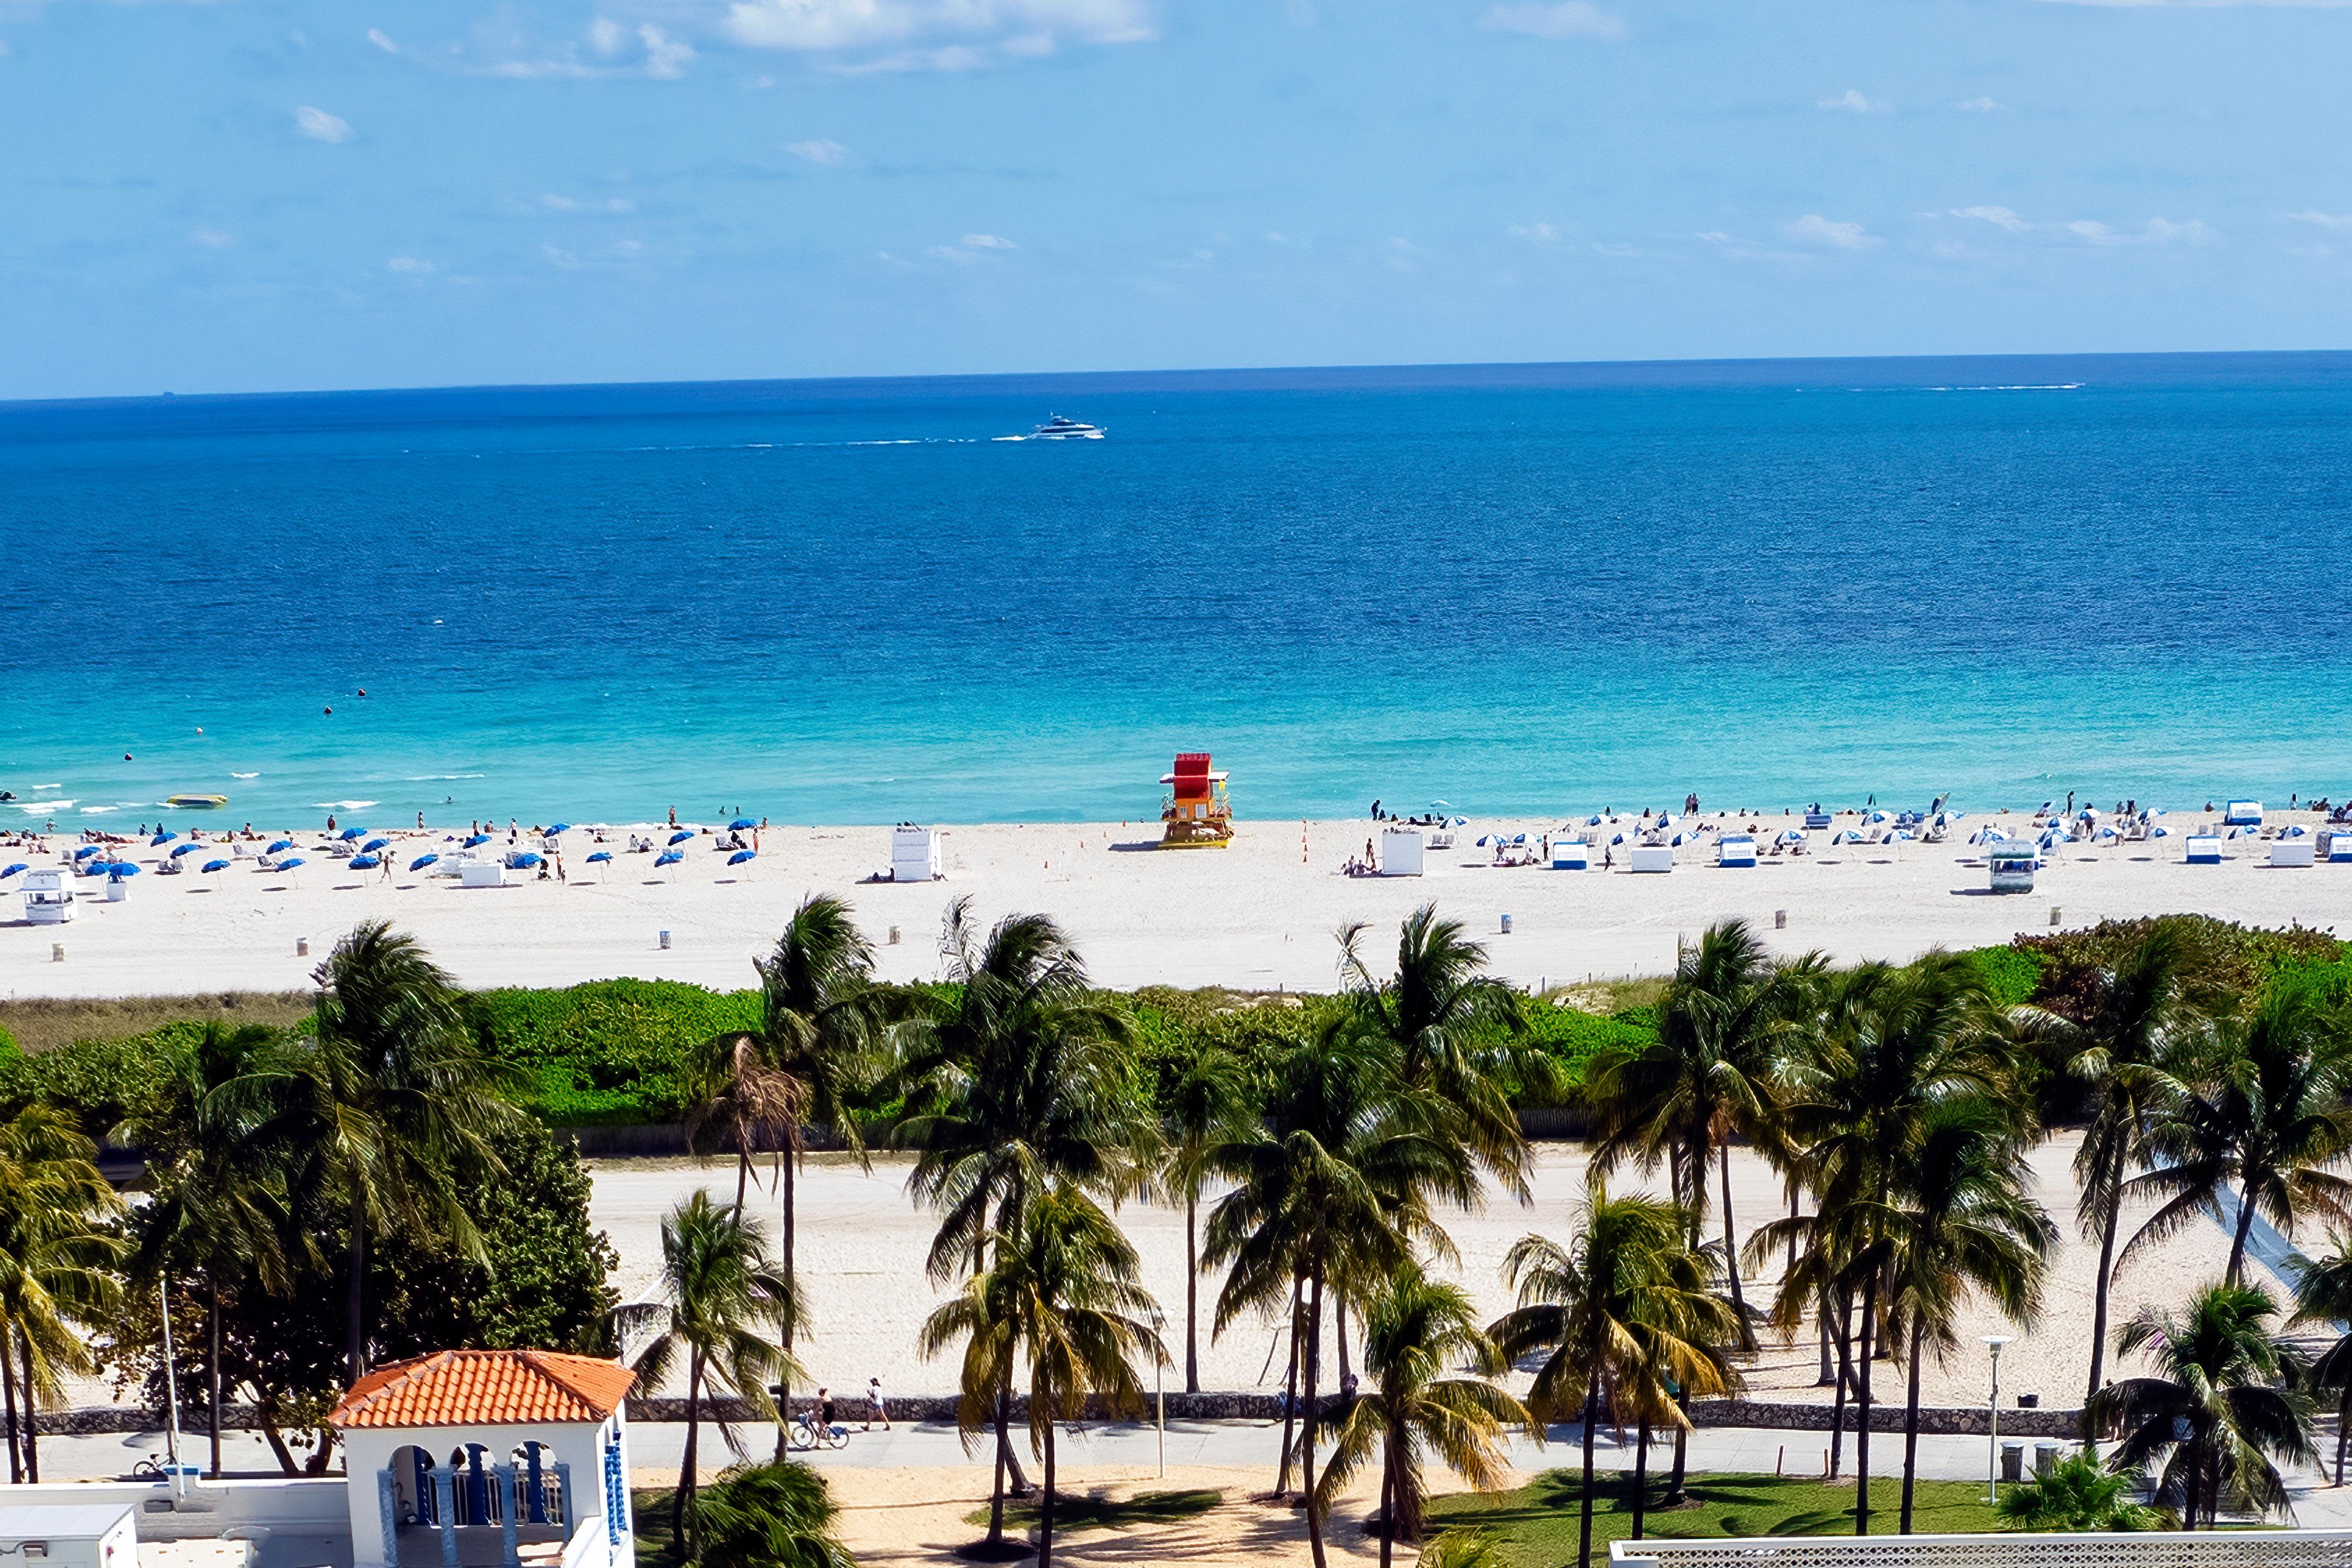
[[1145, 0], [734, 0], [727, 33], [849, 71], [971, 71], [1065, 42], [1157, 38]]

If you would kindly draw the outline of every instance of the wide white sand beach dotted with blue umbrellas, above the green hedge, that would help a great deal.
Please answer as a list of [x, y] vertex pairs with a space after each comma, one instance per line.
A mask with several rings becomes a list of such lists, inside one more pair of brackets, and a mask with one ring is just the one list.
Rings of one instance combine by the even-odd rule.
[[[1581, 820], [1581, 818], [1578, 818]], [[1743, 818], [1776, 832], [1788, 818]], [[1839, 818], [1851, 825], [1853, 818]], [[1966, 825], [1976, 825], [1971, 818]], [[9, 997], [118, 997], [191, 990], [303, 987], [336, 933], [388, 917], [426, 940], [466, 985], [564, 985], [609, 976], [699, 980], [739, 987], [750, 959], [774, 943], [793, 905], [814, 891], [844, 893], [882, 950], [882, 976], [938, 973], [938, 922], [969, 893], [978, 914], [1044, 910], [1077, 938], [1105, 985], [1240, 985], [1331, 990], [1331, 933], [1352, 919], [1395, 922], [1437, 900], [1489, 938], [1494, 964], [1519, 983], [1663, 973], [1675, 940], [1726, 914], [1757, 922], [1783, 950], [1820, 947], [1835, 959], [1910, 959], [1926, 947], [1973, 947], [2100, 917], [2194, 910], [2265, 926], [2336, 926], [2352, 914], [2352, 865], [2272, 870], [2267, 846], [2232, 842], [2223, 865], [2185, 865], [2176, 837], [2114, 849], [2060, 846], [2030, 896], [1994, 898], [1964, 844], [1828, 849], [1757, 870], [1717, 870], [1712, 851], [1684, 849], [1672, 875], [1498, 870], [1470, 849], [1479, 832], [1526, 832], [1557, 820], [1472, 823], [1461, 851], [1428, 858], [1428, 875], [1352, 879], [1338, 865], [1362, 853], [1371, 823], [1251, 823], [1228, 849], [1157, 851], [1157, 823], [950, 827], [946, 879], [920, 886], [863, 884], [889, 863], [887, 827], [776, 827], [755, 863], [727, 870], [710, 839], [682, 865], [652, 856], [583, 865], [588, 835], [567, 835], [567, 870], [583, 879], [461, 891], [423, 875], [379, 882], [322, 853], [292, 875], [247, 867], [216, 877], [132, 879], [125, 903], [103, 903], [85, 879], [71, 926], [0, 924], [0, 992]], [[2281, 820], [2281, 813], [2272, 813]], [[2298, 820], [2314, 820], [2303, 813]], [[2011, 816], [2011, 825], [2023, 818]], [[1606, 830], [1616, 832], [1616, 830]], [[303, 844], [313, 839], [306, 835]], [[52, 846], [64, 844], [54, 839]], [[614, 832], [614, 846], [626, 844]], [[400, 865], [440, 835], [405, 835]], [[134, 851], [148, 872], [167, 851]], [[1621, 851], [1623, 853], [1623, 851]], [[31, 858], [31, 856], [9, 856]], [[209, 858], [209, 856], [207, 856]], [[586, 877], [595, 877], [593, 882]], [[1773, 931], [1773, 912], [1788, 929]], [[14, 917], [16, 900], [0, 900]], [[1498, 936], [1501, 914], [1515, 933]], [[889, 931], [901, 940], [889, 945]], [[670, 950], [661, 950], [670, 931]], [[296, 957], [308, 938], [310, 957]], [[66, 961], [49, 961], [52, 943]]]

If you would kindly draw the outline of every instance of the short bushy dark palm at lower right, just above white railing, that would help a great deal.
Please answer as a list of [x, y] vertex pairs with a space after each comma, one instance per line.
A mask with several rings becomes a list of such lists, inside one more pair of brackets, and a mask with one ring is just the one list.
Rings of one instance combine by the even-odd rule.
[[2157, 1375], [2126, 1378], [2091, 1401], [2096, 1427], [2119, 1425], [2114, 1469], [2161, 1460], [2157, 1502], [2178, 1505], [2180, 1528], [2206, 1528], [2220, 1505], [2272, 1514], [2286, 1507], [2277, 1460], [2310, 1465], [2310, 1403], [2296, 1392], [2298, 1361], [2270, 1335], [2267, 1291], [2206, 1286], [2178, 1314], [2143, 1307], [2117, 1354], [2147, 1352]]

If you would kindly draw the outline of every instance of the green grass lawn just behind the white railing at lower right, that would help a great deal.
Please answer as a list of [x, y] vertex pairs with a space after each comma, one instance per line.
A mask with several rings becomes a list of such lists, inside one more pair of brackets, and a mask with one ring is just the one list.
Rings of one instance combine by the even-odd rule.
[[[1651, 1497], [1665, 1486], [1653, 1474]], [[1783, 1476], [1691, 1476], [1691, 1502], [1651, 1509], [1642, 1533], [1658, 1540], [1733, 1535], [1851, 1535], [1853, 1481]], [[1439, 1528], [1484, 1528], [1505, 1563], [1557, 1568], [1576, 1559], [1576, 1526], [1583, 1476], [1550, 1469], [1512, 1493], [1465, 1493], [1430, 1502]], [[1632, 1486], [1621, 1476], [1595, 1476], [1592, 1561], [1604, 1561], [1609, 1542], [1632, 1535]], [[1870, 1533], [1893, 1535], [1900, 1523], [1903, 1476], [1870, 1479]], [[1912, 1530], [1919, 1535], [1966, 1535], [1999, 1530], [1980, 1481], [1922, 1481]]]

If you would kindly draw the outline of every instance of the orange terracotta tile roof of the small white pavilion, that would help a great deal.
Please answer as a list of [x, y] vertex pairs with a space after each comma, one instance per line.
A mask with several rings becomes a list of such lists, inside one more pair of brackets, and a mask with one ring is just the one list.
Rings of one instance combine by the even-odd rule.
[[334, 1427], [527, 1427], [600, 1422], [637, 1373], [619, 1361], [553, 1349], [437, 1349], [350, 1385]]

